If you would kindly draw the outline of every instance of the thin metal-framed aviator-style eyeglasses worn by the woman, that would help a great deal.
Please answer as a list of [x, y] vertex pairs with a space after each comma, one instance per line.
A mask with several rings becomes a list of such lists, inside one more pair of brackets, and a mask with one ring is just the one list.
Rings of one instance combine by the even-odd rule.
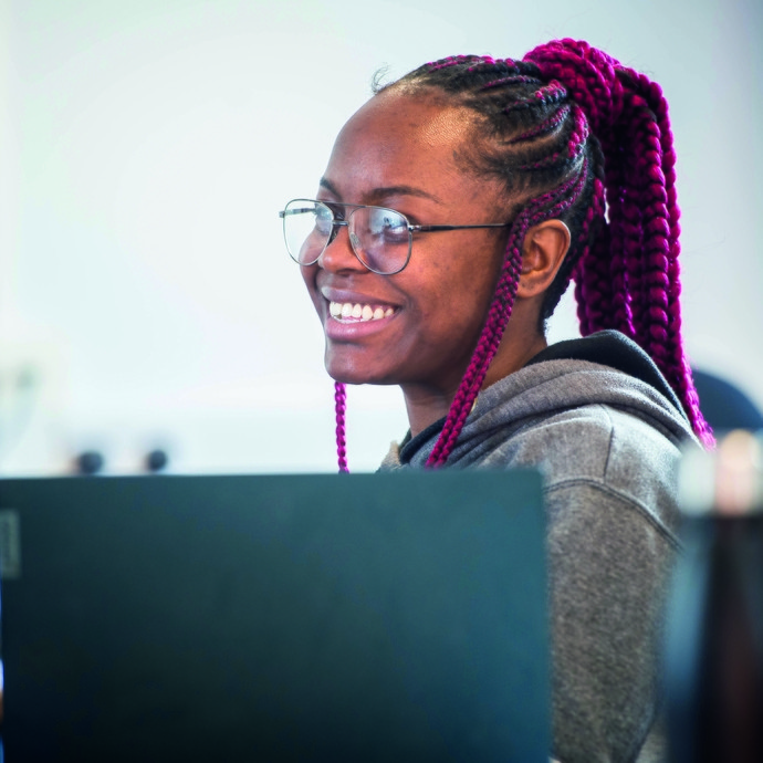
[[408, 218], [386, 207], [326, 203], [293, 199], [279, 212], [289, 255], [301, 265], [312, 265], [346, 227], [355, 257], [374, 273], [394, 275], [410, 260], [414, 233], [466, 228], [506, 228], [510, 222], [481, 226], [411, 226]]

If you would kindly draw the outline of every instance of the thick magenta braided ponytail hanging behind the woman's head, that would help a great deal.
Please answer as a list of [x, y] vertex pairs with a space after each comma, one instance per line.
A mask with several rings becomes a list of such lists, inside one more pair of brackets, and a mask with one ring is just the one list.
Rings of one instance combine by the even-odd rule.
[[[712, 447], [681, 341], [680, 210], [662, 91], [585, 42], [551, 42], [525, 60], [537, 64], [543, 77], [564, 83], [606, 157], [608, 223], [578, 266], [581, 330], [587, 335], [618, 328], [635, 339], [678, 395], [694, 433]], [[607, 264], [608, 280], [602, 278]], [[597, 297], [608, 301], [609, 310], [596, 312]]]

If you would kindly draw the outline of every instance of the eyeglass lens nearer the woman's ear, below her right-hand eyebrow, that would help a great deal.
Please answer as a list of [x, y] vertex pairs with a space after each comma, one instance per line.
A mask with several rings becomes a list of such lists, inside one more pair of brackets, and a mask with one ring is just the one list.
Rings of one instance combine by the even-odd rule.
[[369, 270], [390, 275], [408, 264], [411, 237], [400, 212], [383, 207], [355, 209], [349, 233], [355, 253]]

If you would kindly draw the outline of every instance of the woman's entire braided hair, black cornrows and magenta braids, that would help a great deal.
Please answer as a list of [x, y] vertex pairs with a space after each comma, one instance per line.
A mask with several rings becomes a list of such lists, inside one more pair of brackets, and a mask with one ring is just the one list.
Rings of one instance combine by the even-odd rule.
[[[401, 84], [445, 93], [475, 114], [473, 147], [460, 159], [502, 181], [514, 216], [485, 325], [427, 464], [446, 463], [471, 412], [511, 317], [527, 230], [553, 218], [572, 240], [541, 321], [574, 278], [582, 335], [616, 328], [639, 344], [711, 447], [681, 343], [676, 154], [659, 85], [573, 40], [541, 45], [522, 61], [450, 56], [382, 90]], [[346, 470], [344, 391], [336, 418]]]

